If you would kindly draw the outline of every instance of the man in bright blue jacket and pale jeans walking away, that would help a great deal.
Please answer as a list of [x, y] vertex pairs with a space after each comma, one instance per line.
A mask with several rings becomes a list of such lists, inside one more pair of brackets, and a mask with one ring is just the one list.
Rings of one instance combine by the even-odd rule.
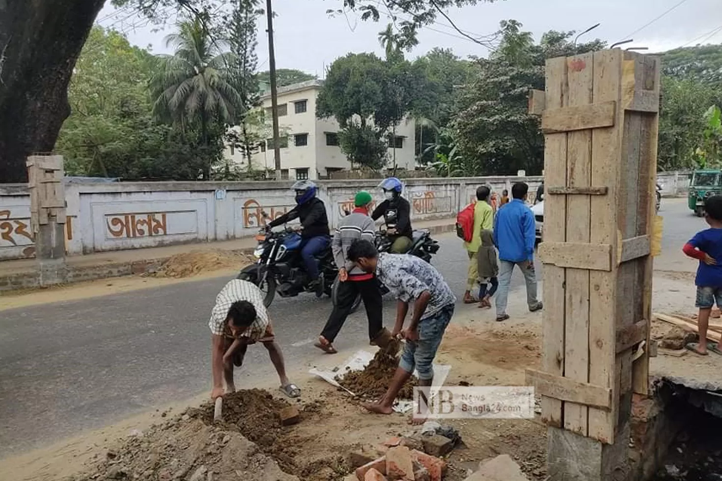
[[514, 266], [518, 265], [526, 281], [526, 303], [529, 311], [539, 311], [543, 306], [536, 299], [536, 274], [534, 273], [534, 214], [526, 206], [529, 185], [517, 182], [511, 187], [513, 200], [499, 208], [494, 219], [494, 244], [499, 250], [499, 290], [496, 295], [497, 321], [509, 319], [506, 313], [509, 284]]

